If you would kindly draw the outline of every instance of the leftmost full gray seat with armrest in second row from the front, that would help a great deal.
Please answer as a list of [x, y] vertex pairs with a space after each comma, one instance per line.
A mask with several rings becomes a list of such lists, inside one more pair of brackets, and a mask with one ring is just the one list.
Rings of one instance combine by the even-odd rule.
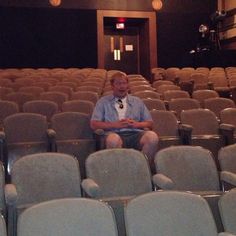
[[5, 188], [8, 231], [15, 235], [17, 216], [26, 208], [51, 199], [81, 197], [78, 161], [62, 153], [26, 155], [12, 166]]

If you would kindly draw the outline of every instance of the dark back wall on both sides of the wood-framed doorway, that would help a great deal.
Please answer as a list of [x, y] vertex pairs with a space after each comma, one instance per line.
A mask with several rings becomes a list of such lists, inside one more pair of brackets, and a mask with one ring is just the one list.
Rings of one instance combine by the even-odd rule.
[[[157, 13], [158, 65], [181, 66], [216, 0], [165, 0]], [[0, 67], [96, 67], [96, 9], [150, 11], [150, 0], [0, 0]]]

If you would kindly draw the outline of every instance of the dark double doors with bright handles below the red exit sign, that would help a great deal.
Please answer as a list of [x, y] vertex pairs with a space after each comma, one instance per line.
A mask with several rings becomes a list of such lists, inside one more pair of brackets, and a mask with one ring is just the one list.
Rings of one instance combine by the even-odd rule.
[[139, 29], [104, 29], [104, 61], [107, 70], [139, 74]]

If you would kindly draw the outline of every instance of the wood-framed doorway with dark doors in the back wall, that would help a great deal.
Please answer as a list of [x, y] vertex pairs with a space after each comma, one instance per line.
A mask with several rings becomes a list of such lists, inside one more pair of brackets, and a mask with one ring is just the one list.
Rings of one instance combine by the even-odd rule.
[[[124, 25], [117, 28], [117, 23]], [[97, 11], [98, 67], [142, 74], [157, 66], [155, 12]]]

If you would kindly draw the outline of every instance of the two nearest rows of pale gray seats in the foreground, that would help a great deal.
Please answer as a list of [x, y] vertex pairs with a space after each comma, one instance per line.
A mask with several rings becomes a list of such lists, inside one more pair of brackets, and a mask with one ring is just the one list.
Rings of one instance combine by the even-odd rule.
[[[25, 155], [13, 163], [9, 183], [1, 167], [8, 235], [75, 235], [74, 230], [97, 227], [94, 235], [236, 234], [235, 152], [236, 144], [219, 151], [219, 171], [209, 150], [171, 146], [156, 154], [152, 175], [137, 150], [100, 150], [87, 158], [84, 179], [71, 155]], [[104, 211], [110, 212], [108, 219], [101, 216]], [[108, 222], [113, 222], [113, 234], [106, 233]]]

